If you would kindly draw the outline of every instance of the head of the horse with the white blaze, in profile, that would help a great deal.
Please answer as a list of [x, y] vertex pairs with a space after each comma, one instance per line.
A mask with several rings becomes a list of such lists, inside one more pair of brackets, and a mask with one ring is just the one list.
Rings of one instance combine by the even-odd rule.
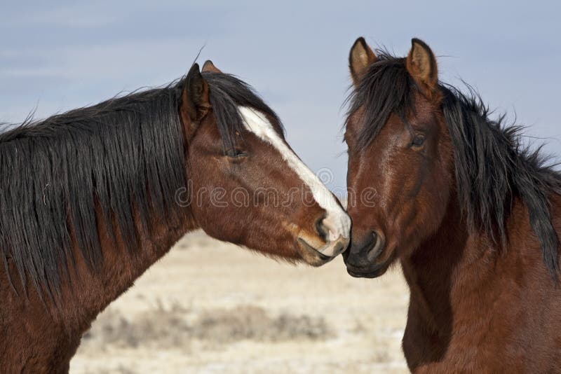
[[189, 71], [180, 116], [187, 199], [196, 225], [219, 240], [322, 265], [349, 244], [351, 221], [292, 151], [269, 106], [205, 62]]

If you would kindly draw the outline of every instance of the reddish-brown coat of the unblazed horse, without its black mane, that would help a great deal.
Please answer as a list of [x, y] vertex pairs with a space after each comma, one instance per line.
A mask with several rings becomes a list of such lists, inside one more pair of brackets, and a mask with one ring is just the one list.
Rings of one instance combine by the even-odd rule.
[[[543, 262], [525, 203], [513, 200], [504, 247], [488, 233], [470, 230], [434, 92], [433, 54], [414, 39], [405, 63], [421, 88], [409, 124], [391, 115], [359, 151], [362, 111], [347, 123], [349, 188], [357, 195], [366, 188], [378, 193], [373, 207], [360, 200], [349, 206], [349, 273], [379, 277], [400, 263], [410, 287], [403, 352], [414, 373], [561, 372], [561, 288]], [[424, 144], [412, 146], [419, 133]], [[550, 205], [560, 233], [560, 195], [550, 193]], [[385, 245], [370, 259], [364, 248], [373, 232]]]

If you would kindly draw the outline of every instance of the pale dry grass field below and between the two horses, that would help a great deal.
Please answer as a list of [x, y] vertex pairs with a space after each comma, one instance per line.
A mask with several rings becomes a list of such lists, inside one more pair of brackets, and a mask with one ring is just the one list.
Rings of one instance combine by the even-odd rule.
[[188, 235], [100, 314], [71, 373], [407, 373], [407, 289]]

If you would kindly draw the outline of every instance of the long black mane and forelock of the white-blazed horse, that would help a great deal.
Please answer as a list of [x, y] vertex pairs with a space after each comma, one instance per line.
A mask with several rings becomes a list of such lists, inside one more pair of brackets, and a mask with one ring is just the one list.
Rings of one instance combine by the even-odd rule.
[[[238, 78], [203, 77], [225, 150], [243, 128], [238, 106], [278, 119]], [[11, 282], [8, 261], [26, 292], [32, 282], [40, 295], [53, 298], [74, 264], [74, 241], [92, 270], [102, 263], [97, 219], [109, 223], [113, 240], [115, 222], [130, 251], [142, 247], [141, 229], [182, 219], [175, 193], [187, 185], [178, 111], [184, 82], [26, 120], [0, 133], [0, 258]]]

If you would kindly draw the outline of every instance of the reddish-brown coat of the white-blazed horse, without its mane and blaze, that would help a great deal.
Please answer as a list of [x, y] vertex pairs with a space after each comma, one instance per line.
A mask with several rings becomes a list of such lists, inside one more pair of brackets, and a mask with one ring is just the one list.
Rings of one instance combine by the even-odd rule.
[[[208, 68], [210, 65], [205, 64]], [[316, 203], [304, 204], [304, 187], [282, 155], [250, 133], [238, 134], [243, 136], [247, 156], [224, 155], [215, 118], [210, 113], [208, 85], [195, 65], [187, 76], [180, 106], [187, 145], [187, 175], [192, 182], [187, 193], [192, 203], [178, 209], [181, 219], [177, 226], [154, 222], [156, 228], [149, 235], [143, 231], [140, 217], [135, 216], [141, 248], [129, 251], [116, 222], [104, 221], [97, 204], [102, 267], [95, 272], [90, 270], [73, 240], [76, 265], [70, 261], [67, 264], [71, 269], [70, 279], [62, 283], [62, 296], [56, 304], [43, 303], [32, 284], [27, 286], [27, 296], [16, 284], [16, 294], [4, 268], [0, 267], [1, 373], [67, 373], [81, 335], [90, 328], [97, 314], [191, 230], [203, 228], [219, 240], [242, 244], [291, 262], [307, 259], [313, 265], [320, 265], [327, 261], [321, 256], [310, 258], [309, 252], [302, 253], [297, 244], [298, 235], [323, 243], [315, 224], [325, 212]], [[208, 193], [198, 195], [205, 188], [210, 191], [216, 186], [227, 191], [227, 198], [234, 188], [245, 188], [251, 198], [259, 188], [274, 188], [278, 198], [289, 203], [275, 206], [271, 202], [266, 205], [258, 201], [256, 205], [251, 201], [238, 207], [229, 201], [227, 207], [217, 207], [211, 203]], [[109, 225], [116, 229], [116, 243], [108, 235]], [[11, 279], [18, 279], [15, 264], [9, 258], [8, 268]]]

